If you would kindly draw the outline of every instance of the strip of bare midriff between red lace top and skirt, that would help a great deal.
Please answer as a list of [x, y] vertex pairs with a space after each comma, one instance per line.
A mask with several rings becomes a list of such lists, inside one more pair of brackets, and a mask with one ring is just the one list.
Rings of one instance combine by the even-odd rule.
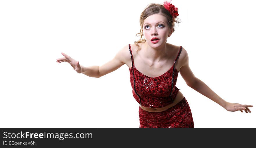
[[178, 104], [182, 99], [184, 98], [183, 94], [179, 91], [176, 98], [173, 100], [173, 103], [166, 105], [165, 107], [161, 107], [161, 108], [149, 108], [149, 107], [144, 107], [141, 106], [141, 109], [148, 111], [148, 112], [161, 112], [161, 111], [165, 111], [166, 109], [169, 109], [170, 107], [173, 107], [174, 105]]

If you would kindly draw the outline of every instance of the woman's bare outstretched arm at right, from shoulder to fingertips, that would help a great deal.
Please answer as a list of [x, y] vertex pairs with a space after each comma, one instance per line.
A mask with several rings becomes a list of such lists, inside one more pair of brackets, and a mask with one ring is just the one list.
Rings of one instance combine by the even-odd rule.
[[204, 82], [202, 82], [200, 79], [195, 77], [193, 72], [191, 71], [189, 67], [189, 56], [186, 52], [186, 50], [182, 50], [184, 52], [183, 58], [182, 58], [182, 66], [179, 70], [179, 73], [181, 74], [182, 78], [185, 80], [186, 84], [194, 89], [195, 91], [201, 93], [202, 95], [206, 96], [207, 98], [213, 100], [214, 102], [221, 105], [223, 108], [225, 108], [227, 111], [241, 111], [245, 110], [251, 112], [248, 107], [253, 107], [252, 105], [242, 105], [238, 103], [230, 103], [225, 100], [223, 100], [220, 96], [218, 96], [214, 91], [212, 91]]

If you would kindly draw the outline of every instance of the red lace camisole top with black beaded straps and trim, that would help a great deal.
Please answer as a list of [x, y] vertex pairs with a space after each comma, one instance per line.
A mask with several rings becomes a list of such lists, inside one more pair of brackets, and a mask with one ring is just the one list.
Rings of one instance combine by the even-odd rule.
[[132, 67], [129, 68], [132, 93], [134, 98], [142, 106], [150, 108], [164, 107], [173, 102], [179, 89], [175, 86], [177, 82], [178, 71], [175, 68], [175, 63], [182, 51], [180, 46], [179, 53], [173, 63], [173, 66], [164, 74], [158, 77], [148, 77], [138, 71], [134, 66], [134, 59], [129, 44], [131, 54]]

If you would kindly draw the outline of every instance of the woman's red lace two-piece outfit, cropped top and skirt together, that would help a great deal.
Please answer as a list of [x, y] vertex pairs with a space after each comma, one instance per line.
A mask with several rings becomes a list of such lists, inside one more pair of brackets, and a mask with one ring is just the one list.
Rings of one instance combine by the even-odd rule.
[[[173, 103], [179, 89], [175, 86], [178, 73], [175, 63], [182, 51], [179, 53], [173, 66], [158, 77], [144, 75], [134, 66], [131, 45], [132, 67], [129, 68], [132, 94], [141, 106], [149, 108], [161, 108]], [[189, 104], [184, 97], [178, 104], [161, 112], [148, 112], [139, 107], [140, 127], [194, 127], [192, 113]]]

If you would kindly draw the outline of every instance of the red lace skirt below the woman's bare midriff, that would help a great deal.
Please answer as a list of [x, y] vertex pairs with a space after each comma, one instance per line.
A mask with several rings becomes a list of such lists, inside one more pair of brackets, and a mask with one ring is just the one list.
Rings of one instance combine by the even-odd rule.
[[175, 106], [161, 112], [148, 112], [139, 107], [140, 127], [194, 127], [189, 104], [184, 97]]

